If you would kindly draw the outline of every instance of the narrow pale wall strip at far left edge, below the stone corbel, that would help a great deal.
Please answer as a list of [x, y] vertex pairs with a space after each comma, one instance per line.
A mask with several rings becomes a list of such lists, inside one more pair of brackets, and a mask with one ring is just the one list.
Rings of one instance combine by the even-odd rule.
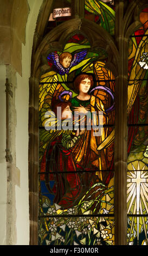
[[0, 65], [0, 245], [5, 245], [7, 214], [7, 164], [5, 161], [5, 65]]

